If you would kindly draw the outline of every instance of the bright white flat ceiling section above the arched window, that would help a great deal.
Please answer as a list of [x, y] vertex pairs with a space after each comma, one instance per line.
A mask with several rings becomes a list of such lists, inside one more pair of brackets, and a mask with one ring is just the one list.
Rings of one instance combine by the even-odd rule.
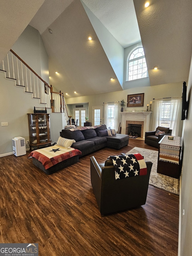
[[82, 0], [116, 40], [126, 48], [141, 41], [131, 0]]

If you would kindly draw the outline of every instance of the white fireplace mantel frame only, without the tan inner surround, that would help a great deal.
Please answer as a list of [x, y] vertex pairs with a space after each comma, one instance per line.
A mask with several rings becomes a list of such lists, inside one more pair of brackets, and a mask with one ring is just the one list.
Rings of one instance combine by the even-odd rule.
[[143, 137], [145, 137], [145, 132], [149, 131], [149, 119], [151, 111], [141, 111], [141, 112], [120, 112], [122, 115], [121, 123], [121, 133], [126, 134], [126, 121], [143, 121]]

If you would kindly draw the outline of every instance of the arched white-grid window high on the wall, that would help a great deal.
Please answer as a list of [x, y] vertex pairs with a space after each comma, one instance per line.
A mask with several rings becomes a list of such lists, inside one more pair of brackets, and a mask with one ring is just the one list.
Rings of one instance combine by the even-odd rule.
[[127, 58], [126, 81], [148, 77], [147, 64], [142, 46], [134, 48]]

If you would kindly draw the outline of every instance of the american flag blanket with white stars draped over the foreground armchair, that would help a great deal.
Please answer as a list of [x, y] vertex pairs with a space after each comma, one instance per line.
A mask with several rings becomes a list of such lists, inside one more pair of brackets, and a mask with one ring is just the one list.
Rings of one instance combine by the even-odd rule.
[[146, 162], [141, 154], [109, 156], [115, 167], [115, 178], [124, 179], [147, 174]]

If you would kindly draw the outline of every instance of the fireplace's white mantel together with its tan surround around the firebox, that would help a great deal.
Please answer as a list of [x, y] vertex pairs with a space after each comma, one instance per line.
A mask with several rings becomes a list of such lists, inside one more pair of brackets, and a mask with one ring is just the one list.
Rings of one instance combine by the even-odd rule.
[[121, 133], [127, 134], [128, 124], [141, 125], [141, 138], [145, 138], [145, 132], [149, 131], [150, 111], [120, 112], [122, 116]]

